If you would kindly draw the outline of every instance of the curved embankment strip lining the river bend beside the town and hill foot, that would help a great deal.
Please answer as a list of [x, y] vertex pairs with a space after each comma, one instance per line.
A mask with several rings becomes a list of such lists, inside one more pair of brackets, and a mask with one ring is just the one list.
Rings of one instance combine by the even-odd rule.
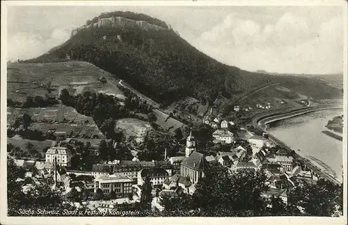
[[[317, 111], [317, 110], [325, 110], [325, 109], [342, 109], [342, 105], [339, 104], [323, 104], [315, 107], [302, 107], [299, 109], [290, 109], [287, 111], [273, 111], [273, 112], [268, 112], [265, 114], [258, 114], [253, 116], [252, 118], [252, 123], [253, 126], [258, 129], [260, 132], [267, 132], [267, 123], [271, 123], [274, 121], [280, 121], [285, 118], [291, 118], [294, 116], [299, 116], [302, 114], [309, 113], [311, 111]], [[304, 169], [308, 169], [312, 172], [314, 176], [317, 178], [322, 178], [324, 180], [329, 180], [335, 185], [340, 185], [340, 181], [337, 180], [334, 176], [332, 176], [330, 173], [327, 173], [326, 171], [323, 171], [320, 169], [318, 166], [315, 166], [313, 162], [310, 160], [306, 159], [305, 157], [302, 157], [301, 155], [295, 153], [290, 146], [287, 146], [287, 144], [283, 143], [283, 141], [280, 141], [273, 135], [269, 134], [269, 140], [276, 144], [277, 146], [280, 146], [281, 148], [284, 148], [287, 150], [288, 153], [292, 153], [294, 156], [294, 160], [296, 162], [299, 162]]]

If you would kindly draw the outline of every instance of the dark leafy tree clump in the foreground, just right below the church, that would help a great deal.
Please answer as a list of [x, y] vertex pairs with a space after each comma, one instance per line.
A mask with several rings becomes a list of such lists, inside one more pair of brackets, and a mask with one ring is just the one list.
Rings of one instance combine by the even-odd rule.
[[208, 212], [215, 212], [216, 208], [261, 212], [266, 206], [260, 195], [268, 189], [264, 185], [265, 180], [261, 172], [239, 171], [230, 174], [226, 167], [216, 163], [212, 164], [205, 178], [198, 180], [193, 196], [198, 207]]

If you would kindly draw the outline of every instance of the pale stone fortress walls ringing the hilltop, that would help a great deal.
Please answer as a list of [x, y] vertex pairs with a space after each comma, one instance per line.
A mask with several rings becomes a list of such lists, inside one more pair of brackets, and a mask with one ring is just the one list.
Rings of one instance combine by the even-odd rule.
[[162, 26], [150, 24], [147, 21], [143, 21], [143, 20], [130, 20], [125, 17], [109, 17], [109, 18], [98, 18], [98, 22], [89, 24], [88, 26], [84, 25], [77, 29], [73, 29], [71, 32], [71, 37], [75, 36], [78, 31], [82, 31], [90, 27], [112, 28], [112, 27], [126, 27], [126, 26], [139, 26], [141, 27], [141, 29], [144, 29], [144, 30], [156, 30], [156, 31], [166, 30], [166, 28]]

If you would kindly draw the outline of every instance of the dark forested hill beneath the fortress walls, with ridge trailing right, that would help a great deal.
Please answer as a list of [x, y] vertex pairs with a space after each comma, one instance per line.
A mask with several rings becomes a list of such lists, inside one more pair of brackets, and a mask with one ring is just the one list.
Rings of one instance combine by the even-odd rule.
[[[113, 15], [146, 20], [168, 28], [165, 22], [131, 12], [104, 13], [100, 17]], [[219, 94], [233, 100], [259, 86], [276, 82], [312, 98], [342, 98], [342, 89], [319, 79], [270, 75], [263, 70], [248, 72], [220, 63], [189, 45], [172, 29], [90, 26], [77, 31], [63, 45], [26, 62], [68, 60], [93, 63], [162, 104], [189, 96], [212, 103]]]

